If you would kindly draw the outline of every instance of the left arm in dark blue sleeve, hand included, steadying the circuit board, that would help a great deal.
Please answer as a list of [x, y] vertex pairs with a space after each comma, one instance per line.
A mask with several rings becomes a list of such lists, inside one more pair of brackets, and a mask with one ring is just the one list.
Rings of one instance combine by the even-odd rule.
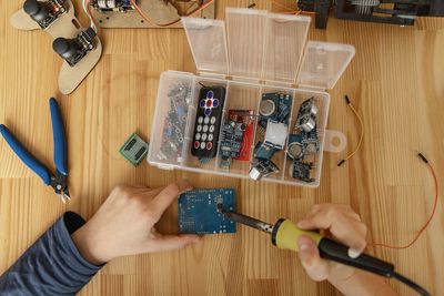
[[118, 186], [88, 222], [68, 212], [0, 276], [1, 295], [74, 295], [101, 266], [119, 256], [176, 249], [196, 235], [154, 228], [186, 182], [163, 188]]

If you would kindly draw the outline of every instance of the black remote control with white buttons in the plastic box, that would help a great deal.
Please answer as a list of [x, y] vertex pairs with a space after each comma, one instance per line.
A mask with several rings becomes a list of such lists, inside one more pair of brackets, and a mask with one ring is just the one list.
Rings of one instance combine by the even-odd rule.
[[201, 89], [191, 146], [192, 155], [199, 159], [212, 159], [215, 156], [224, 102], [225, 88]]

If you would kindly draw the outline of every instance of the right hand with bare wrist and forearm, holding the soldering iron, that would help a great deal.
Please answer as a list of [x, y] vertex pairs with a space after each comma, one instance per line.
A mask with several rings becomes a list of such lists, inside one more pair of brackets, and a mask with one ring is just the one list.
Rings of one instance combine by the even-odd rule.
[[[297, 226], [303, 229], [322, 229], [324, 235], [346, 244], [352, 257], [357, 257], [366, 246], [367, 228], [349, 205], [315, 205]], [[396, 295], [381, 276], [322, 259], [317, 246], [310, 237], [301, 236], [297, 245], [301, 263], [312, 279], [326, 279], [344, 295]]]

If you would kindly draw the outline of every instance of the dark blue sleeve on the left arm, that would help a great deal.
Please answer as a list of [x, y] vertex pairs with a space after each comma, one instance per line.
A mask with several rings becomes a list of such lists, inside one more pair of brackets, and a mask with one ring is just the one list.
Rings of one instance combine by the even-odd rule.
[[74, 295], [102, 266], [80, 255], [71, 234], [84, 224], [67, 212], [0, 276], [1, 295]]

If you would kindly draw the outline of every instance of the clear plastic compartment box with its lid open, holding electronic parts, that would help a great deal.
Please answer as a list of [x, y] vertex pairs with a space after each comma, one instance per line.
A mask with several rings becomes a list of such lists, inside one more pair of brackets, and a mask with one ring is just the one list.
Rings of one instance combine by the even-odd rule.
[[[183, 18], [198, 74], [176, 71], [161, 74], [151, 125], [149, 163], [167, 170], [319, 186], [323, 151], [342, 151], [346, 143], [342, 133], [325, 129], [330, 104], [325, 90], [335, 85], [355, 50], [347, 44], [306, 41], [310, 21], [309, 17], [233, 8], [226, 9], [225, 21]], [[243, 126], [249, 126], [248, 136], [243, 135], [243, 159], [232, 157], [226, 162], [226, 154], [221, 151], [221, 141], [226, 140], [226, 133], [222, 135], [223, 127], [218, 131], [215, 157], [198, 159], [191, 154], [199, 93], [204, 86], [225, 88], [221, 126], [231, 123], [232, 112], [248, 111], [251, 115]], [[272, 99], [268, 101], [268, 98]], [[263, 114], [270, 108], [273, 111], [281, 106], [282, 100], [286, 99], [290, 103], [282, 104], [285, 120], [264, 121]], [[273, 105], [273, 102], [278, 103]], [[313, 124], [303, 120], [304, 112], [312, 114], [314, 130], [310, 133], [305, 132]], [[280, 135], [283, 127], [286, 131], [284, 137]], [[307, 130], [304, 132], [304, 129]], [[341, 140], [339, 146], [330, 144], [332, 137]], [[259, 154], [270, 146], [259, 150], [261, 143], [264, 145], [270, 141], [274, 141], [274, 153], [270, 157], [274, 167], [271, 173], [265, 170], [261, 174], [262, 171], [258, 171], [259, 160], [262, 162]], [[293, 142], [297, 142], [296, 145]], [[310, 153], [305, 154], [309, 149]]]

